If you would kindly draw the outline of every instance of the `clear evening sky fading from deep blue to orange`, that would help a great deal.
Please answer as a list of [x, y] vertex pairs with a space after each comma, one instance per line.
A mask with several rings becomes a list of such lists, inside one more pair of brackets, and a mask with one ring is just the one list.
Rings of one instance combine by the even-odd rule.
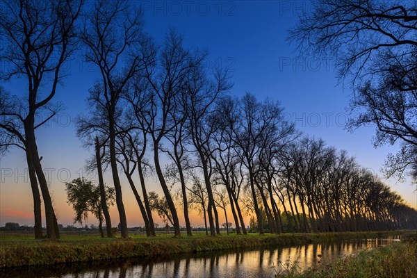
[[[294, 26], [297, 15], [309, 10], [310, 1], [135, 1], [142, 6], [145, 31], [157, 42], [163, 40], [168, 28], [183, 34], [187, 47], [208, 49], [207, 63], [231, 67], [234, 87], [231, 95], [241, 96], [249, 91], [259, 99], [278, 100], [285, 108], [288, 120], [310, 136], [322, 138], [327, 145], [345, 149], [357, 162], [382, 177], [386, 154], [397, 152], [398, 146], [375, 149], [372, 145], [374, 126], [363, 127], [354, 133], [344, 129], [348, 114], [350, 88], [338, 85], [332, 60], [299, 57], [295, 45], [288, 44], [287, 30]], [[7, 70], [0, 65], [1, 70]], [[85, 150], [76, 138], [74, 119], [85, 114], [90, 88], [97, 79], [97, 69], [88, 65], [77, 54], [70, 60], [68, 74], [60, 86], [55, 101], [61, 101], [65, 110], [54, 121], [38, 130], [37, 142], [42, 167], [50, 181], [58, 222], [72, 224], [73, 211], [66, 202], [65, 181], [81, 175], [97, 180], [83, 170], [85, 159], [92, 150]], [[25, 94], [24, 80], [3, 83], [12, 94]], [[40, 115], [42, 118], [42, 115]], [[0, 158], [0, 225], [6, 222], [33, 225], [33, 201], [24, 152], [10, 149]], [[161, 192], [156, 178], [148, 179], [149, 190]], [[391, 188], [417, 207], [415, 186], [411, 180], [385, 180]], [[107, 183], [112, 184], [107, 175]], [[129, 185], [122, 184], [124, 204], [129, 226], [143, 223]], [[115, 206], [111, 208], [117, 224]], [[181, 213], [180, 213], [181, 215]], [[219, 214], [221, 215], [221, 213]], [[220, 218], [222, 222], [223, 216]], [[161, 220], [155, 215], [156, 222]], [[190, 218], [195, 226], [203, 224], [201, 216]], [[93, 218], [89, 224], [95, 223]], [[180, 223], [183, 219], [180, 216]], [[247, 221], [247, 223], [249, 223]]]

